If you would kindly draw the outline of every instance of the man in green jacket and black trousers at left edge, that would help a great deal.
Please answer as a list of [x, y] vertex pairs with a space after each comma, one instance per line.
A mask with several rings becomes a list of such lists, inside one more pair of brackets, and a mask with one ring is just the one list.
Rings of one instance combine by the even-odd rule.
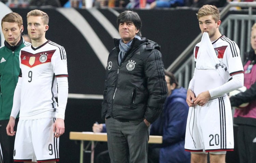
[[[0, 144], [3, 163], [12, 163], [15, 137], [8, 136], [5, 128], [9, 122], [20, 71], [19, 52], [30, 43], [25, 42], [22, 37], [23, 20], [19, 14], [13, 12], [5, 15], [1, 26], [5, 41], [4, 46], [0, 47]], [[17, 122], [16, 118], [15, 128]]]

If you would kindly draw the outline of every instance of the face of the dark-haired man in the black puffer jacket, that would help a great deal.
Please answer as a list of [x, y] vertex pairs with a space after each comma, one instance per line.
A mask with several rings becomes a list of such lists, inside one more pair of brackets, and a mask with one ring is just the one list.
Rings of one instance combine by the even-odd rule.
[[135, 25], [132, 22], [119, 24], [119, 34], [125, 44], [131, 41], [138, 32], [139, 30], [135, 27]]

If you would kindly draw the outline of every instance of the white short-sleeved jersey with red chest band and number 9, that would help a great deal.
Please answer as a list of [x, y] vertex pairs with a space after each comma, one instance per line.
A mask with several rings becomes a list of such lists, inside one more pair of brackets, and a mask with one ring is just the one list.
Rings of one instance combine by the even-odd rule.
[[19, 61], [19, 77], [22, 77], [20, 119], [56, 117], [56, 77], [68, 77], [64, 47], [49, 40], [37, 48], [27, 46], [21, 49]]

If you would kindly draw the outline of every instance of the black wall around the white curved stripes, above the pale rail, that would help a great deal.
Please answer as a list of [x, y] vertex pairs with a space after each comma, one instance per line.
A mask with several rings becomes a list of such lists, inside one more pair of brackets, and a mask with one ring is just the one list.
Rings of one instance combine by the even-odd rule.
[[[24, 33], [26, 34], [26, 15], [31, 9], [12, 10], [22, 15]], [[55, 9], [41, 10], [46, 12], [50, 18], [46, 38], [64, 46], [66, 49], [69, 93], [102, 94], [105, 67], [101, 64], [86, 39], [66, 17]], [[77, 9], [77, 11], [87, 20], [105, 47], [110, 51], [114, 47], [113, 41], [102, 25], [87, 10]], [[117, 17], [108, 9], [99, 9], [99, 11], [118, 30]], [[117, 11], [122, 12], [123, 10]], [[136, 12], [142, 19], [142, 35], [161, 46], [165, 68], [168, 68], [172, 61], [200, 33], [196, 11], [193, 10], [137, 10]], [[188, 17], [187, 15], [192, 16]]]

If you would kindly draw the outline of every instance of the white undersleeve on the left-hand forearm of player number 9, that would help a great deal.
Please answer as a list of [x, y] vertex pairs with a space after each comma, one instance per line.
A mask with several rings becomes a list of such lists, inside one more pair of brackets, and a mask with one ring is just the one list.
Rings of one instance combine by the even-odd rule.
[[18, 83], [16, 85], [16, 88], [14, 90], [14, 95], [13, 95], [13, 105], [12, 105], [11, 116], [14, 118], [17, 117], [20, 109], [20, 96], [21, 96], [21, 88], [22, 88], [21, 85], [22, 85], [22, 78], [19, 77]]

